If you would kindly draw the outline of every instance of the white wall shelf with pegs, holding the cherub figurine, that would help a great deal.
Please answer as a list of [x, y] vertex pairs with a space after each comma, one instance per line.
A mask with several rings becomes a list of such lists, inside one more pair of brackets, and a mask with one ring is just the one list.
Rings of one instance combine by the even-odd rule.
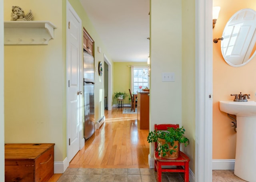
[[6, 21], [4, 45], [47, 45], [54, 38], [55, 28], [48, 21]]

